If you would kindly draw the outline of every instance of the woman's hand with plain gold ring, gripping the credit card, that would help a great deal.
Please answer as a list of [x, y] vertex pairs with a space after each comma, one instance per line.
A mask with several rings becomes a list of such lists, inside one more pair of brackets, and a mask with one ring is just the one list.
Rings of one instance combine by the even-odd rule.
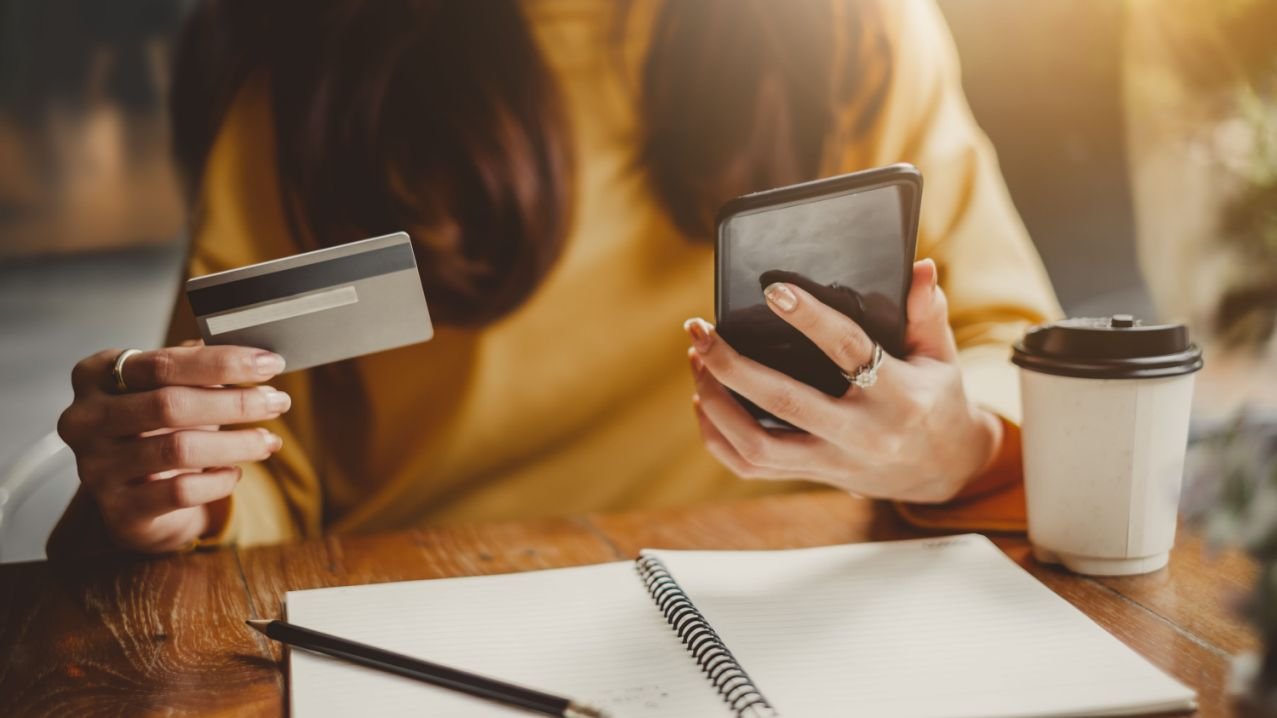
[[235, 464], [280, 450], [262, 428], [222, 429], [273, 419], [287, 393], [255, 385], [283, 370], [283, 358], [244, 346], [175, 346], [124, 363], [128, 392], [112, 368], [119, 350], [100, 351], [72, 372], [75, 399], [57, 433], [75, 452], [83, 489], [96, 501], [121, 548], [189, 547], [225, 520], [240, 478]]

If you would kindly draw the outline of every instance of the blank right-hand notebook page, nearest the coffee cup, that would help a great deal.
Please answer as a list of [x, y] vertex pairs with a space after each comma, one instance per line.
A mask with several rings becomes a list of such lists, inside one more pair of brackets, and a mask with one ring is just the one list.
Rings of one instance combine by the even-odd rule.
[[1119, 715], [1194, 699], [979, 535], [644, 554], [785, 717]]

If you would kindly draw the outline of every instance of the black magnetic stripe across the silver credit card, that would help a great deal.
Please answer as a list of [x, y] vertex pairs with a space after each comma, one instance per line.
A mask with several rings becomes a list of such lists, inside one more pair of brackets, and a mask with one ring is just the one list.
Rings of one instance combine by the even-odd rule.
[[248, 304], [272, 302], [305, 291], [351, 284], [416, 267], [409, 243], [372, 252], [326, 259], [268, 275], [206, 286], [186, 293], [197, 317], [238, 309]]

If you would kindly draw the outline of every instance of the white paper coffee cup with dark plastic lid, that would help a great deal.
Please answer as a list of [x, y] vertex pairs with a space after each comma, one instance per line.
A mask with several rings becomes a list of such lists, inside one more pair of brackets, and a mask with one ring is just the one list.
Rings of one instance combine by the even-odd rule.
[[1202, 368], [1188, 330], [1065, 319], [1031, 330], [1013, 360], [1034, 556], [1102, 576], [1165, 566]]

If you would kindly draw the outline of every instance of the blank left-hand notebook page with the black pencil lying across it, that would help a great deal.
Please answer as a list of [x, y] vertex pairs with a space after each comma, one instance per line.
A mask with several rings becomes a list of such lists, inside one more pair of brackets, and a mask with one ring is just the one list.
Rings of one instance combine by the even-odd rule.
[[[290, 592], [290, 622], [608, 708], [725, 715], [632, 562]], [[290, 650], [292, 714], [527, 715]]]

